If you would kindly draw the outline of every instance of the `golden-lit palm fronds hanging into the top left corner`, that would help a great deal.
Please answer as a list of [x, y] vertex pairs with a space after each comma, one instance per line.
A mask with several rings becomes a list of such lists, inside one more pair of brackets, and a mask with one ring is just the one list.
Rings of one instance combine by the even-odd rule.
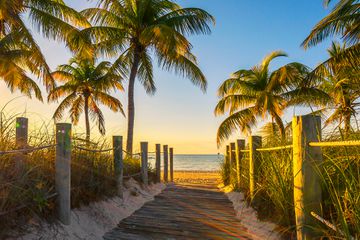
[[18, 89], [26, 95], [35, 92], [41, 99], [39, 89], [26, 72], [40, 78], [48, 90], [54, 86], [54, 80], [25, 19], [45, 37], [65, 41], [74, 51], [84, 45], [77, 27], [89, 27], [89, 23], [62, 0], [6, 0], [1, 1], [0, 10], [0, 52], [6, 59], [2, 60], [0, 77], [10, 90]]

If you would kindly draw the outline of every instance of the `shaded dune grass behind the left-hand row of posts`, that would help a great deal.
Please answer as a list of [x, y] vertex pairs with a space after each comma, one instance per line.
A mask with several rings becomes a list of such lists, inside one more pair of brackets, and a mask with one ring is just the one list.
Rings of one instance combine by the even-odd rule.
[[[15, 118], [4, 115], [0, 124], [0, 151], [15, 149]], [[33, 147], [55, 143], [53, 127], [41, 125], [29, 132], [29, 145]], [[71, 206], [87, 205], [94, 201], [116, 195], [112, 151], [92, 153], [75, 146], [94, 150], [110, 149], [106, 139], [91, 144], [72, 137], [71, 156]], [[140, 172], [138, 157], [124, 159], [124, 175]], [[140, 176], [134, 177], [141, 181]], [[149, 169], [153, 181], [154, 170]], [[33, 216], [54, 220], [55, 216], [55, 148], [43, 149], [27, 154], [0, 156], [0, 238], [10, 229], [21, 227]]]

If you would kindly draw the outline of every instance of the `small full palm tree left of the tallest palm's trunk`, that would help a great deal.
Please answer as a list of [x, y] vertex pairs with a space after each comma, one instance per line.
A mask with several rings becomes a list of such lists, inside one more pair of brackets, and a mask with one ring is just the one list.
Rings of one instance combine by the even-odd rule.
[[65, 97], [53, 118], [61, 119], [64, 110], [70, 108], [71, 121], [76, 125], [84, 111], [87, 142], [90, 140], [89, 115], [97, 121], [99, 132], [105, 134], [105, 119], [99, 103], [124, 114], [120, 101], [109, 94], [111, 90], [123, 90], [122, 77], [114, 74], [110, 62], [96, 65], [94, 60], [73, 58], [69, 64], [60, 65], [52, 76], [64, 84], [49, 93], [48, 101], [54, 102]]

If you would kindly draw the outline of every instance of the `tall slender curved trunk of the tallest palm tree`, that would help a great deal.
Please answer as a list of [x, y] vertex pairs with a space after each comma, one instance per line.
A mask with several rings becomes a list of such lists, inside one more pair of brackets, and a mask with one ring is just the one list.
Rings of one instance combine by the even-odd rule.
[[134, 138], [134, 121], [135, 121], [135, 104], [134, 104], [134, 86], [136, 74], [140, 63], [140, 53], [135, 48], [134, 61], [131, 67], [128, 89], [128, 129], [126, 139], [126, 151], [128, 155], [133, 153], [133, 138]]

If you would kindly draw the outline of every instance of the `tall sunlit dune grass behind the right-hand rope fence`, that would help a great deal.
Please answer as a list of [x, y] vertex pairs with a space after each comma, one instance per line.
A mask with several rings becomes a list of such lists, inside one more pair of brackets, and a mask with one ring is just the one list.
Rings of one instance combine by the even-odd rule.
[[[324, 136], [323, 141], [359, 140], [360, 131], [353, 132], [345, 138], [340, 131]], [[266, 146], [279, 144], [277, 140], [268, 141]], [[323, 162], [317, 166], [316, 172], [322, 183], [322, 213], [325, 220], [335, 225], [337, 231], [319, 222], [316, 226], [324, 237], [339, 239], [360, 238], [360, 148], [329, 147], [323, 148]], [[257, 190], [253, 201], [249, 199], [247, 176], [242, 177], [240, 189], [247, 196], [263, 220], [276, 222], [280, 232], [286, 238], [295, 238], [295, 212], [293, 202], [292, 150], [262, 152], [259, 167]], [[248, 156], [242, 159], [246, 169]], [[223, 181], [229, 181], [224, 163], [222, 167]], [[243, 171], [248, 173], [248, 171]], [[233, 186], [236, 178], [231, 177]]]

